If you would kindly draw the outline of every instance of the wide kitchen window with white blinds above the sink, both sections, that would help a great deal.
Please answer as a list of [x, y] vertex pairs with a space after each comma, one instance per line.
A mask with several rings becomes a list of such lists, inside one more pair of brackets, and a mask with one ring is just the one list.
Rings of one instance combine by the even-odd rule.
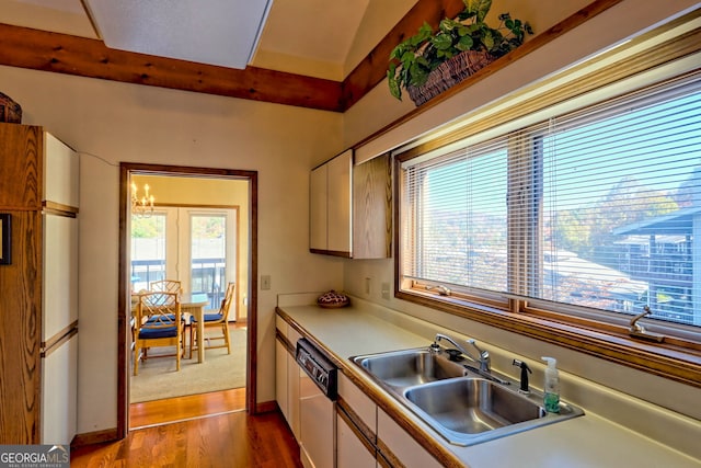
[[611, 323], [647, 307], [698, 340], [701, 72], [414, 156], [400, 292]]

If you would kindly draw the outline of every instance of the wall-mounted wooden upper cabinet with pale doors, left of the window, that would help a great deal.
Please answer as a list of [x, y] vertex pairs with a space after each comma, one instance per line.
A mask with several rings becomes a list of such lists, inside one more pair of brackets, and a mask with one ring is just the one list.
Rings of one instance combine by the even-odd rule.
[[391, 256], [391, 205], [389, 155], [353, 165], [348, 149], [314, 168], [310, 251], [353, 259]]

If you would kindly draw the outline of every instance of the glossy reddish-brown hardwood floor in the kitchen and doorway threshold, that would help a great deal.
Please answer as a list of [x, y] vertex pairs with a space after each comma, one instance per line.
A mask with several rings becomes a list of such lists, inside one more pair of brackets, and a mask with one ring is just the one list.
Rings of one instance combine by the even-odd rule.
[[[237, 390], [133, 404], [131, 426], [141, 429], [123, 441], [71, 450], [70, 466], [300, 468], [299, 446], [283, 415], [249, 415], [245, 391]], [[212, 412], [219, 414], [207, 415]], [[180, 422], [163, 424], [169, 413]]]

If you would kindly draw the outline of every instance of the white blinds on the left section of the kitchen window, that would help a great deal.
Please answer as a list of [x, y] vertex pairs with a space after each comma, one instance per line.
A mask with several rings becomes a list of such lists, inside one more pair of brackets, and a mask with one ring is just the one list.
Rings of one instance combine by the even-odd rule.
[[404, 275], [505, 290], [506, 139], [411, 165], [404, 187]]

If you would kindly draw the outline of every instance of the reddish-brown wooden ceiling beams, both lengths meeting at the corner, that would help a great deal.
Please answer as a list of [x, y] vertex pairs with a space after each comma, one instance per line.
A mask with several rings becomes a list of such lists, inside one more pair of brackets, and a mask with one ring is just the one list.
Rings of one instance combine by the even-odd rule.
[[420, 0], [343, 82], [246, 67], [237, 70], [111, 49], [102, 41], [0, 23], [0, 65], [345, 112], [382, 81], [389, 54], [427, 21], [434, 27], [462, 0]]

